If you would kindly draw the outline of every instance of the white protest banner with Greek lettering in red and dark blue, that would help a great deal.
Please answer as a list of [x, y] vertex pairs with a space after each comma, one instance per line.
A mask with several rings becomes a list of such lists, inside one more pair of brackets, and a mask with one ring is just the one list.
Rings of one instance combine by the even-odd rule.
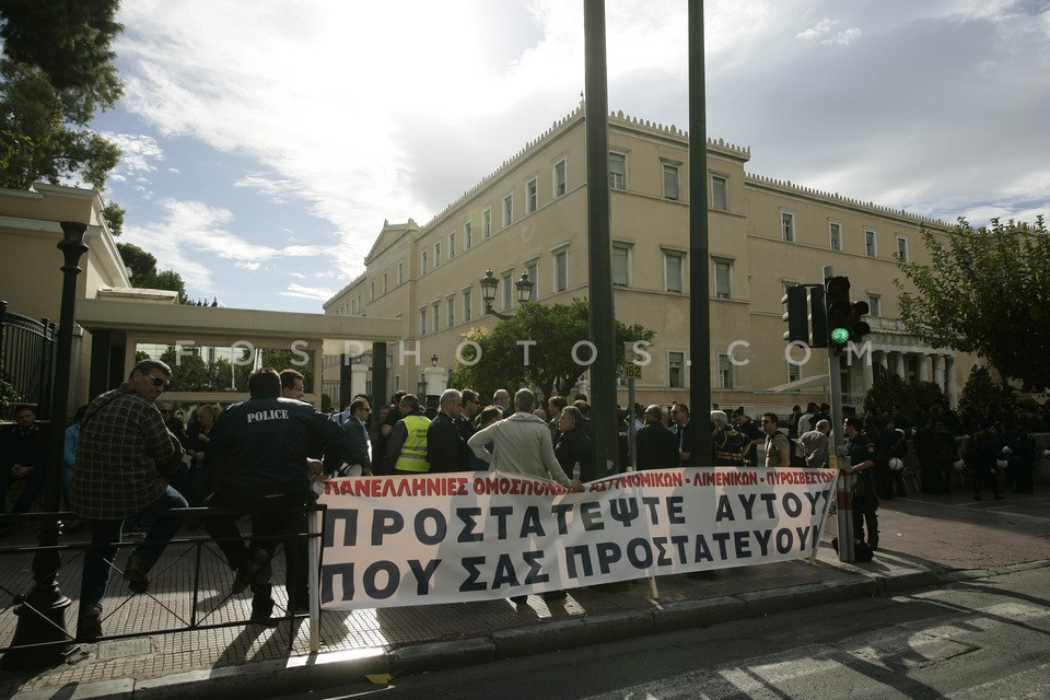
[[813, 552], [837, 469], [653, 469], [569, 493], [499, 471], [325, 482], [325, 609], [464, 603]]

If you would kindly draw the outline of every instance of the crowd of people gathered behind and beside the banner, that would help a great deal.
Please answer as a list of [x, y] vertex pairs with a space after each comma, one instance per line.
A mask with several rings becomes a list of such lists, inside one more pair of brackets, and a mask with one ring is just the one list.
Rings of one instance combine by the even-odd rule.
[[[273, 599], [271, 560], [283, 545], [290, 605], [308, 602], [305, 505], [312, 483], [326, 475], [394, 476], [493, 469], [550, 479], [570, 491], [634, 465], [658, 469], [690, 465], [736, 467], [839, 466], [854, 475], [854, 534], [878, 547], [880, 500], [907, 495], [906, 463], [915, 465], [924, 493], [947, 493], [965, 466], [972, 471], [973, 498], [1001, 483], [1031, 493], [1036, 454], [1032, 430], [1048, 418], [1015, 407], [978, 417], [935, 405], [908, 415], [896, 407], [843, 418], [845, 443], [832, 460], [832, 420], [827, 404], [795, 406], [788, 416], [752, 419], [744, 407], [714, 406], [704, 444], [693, 444], [689, 406], [635, 405], [620, 409], [617, 463], [598, 464], [587, 397], [553, 396], [540, 402], [529, 389], [493, 393], [491, 402], [471, 389], [450, 388], [436, 397], [397, 392], [389, 404], [354, 396], [341, 410], [322, 413], [302, 401], [304, 377], [295, 370], [257, 370], [246, 401], [223, 409], [198, 406], [187, 416], [161, 396], [171, 369], [145, 360], [127, 382], [81, 407], [66, 431], [63, 497], [91, 535], [84, 562], [78, 635], [102, 634], [102, 602], [115, 542], [140, 529], [141, 541], [120, 571], [132, 592], [150, 586], [150, 571], [183, 525], [172, 509], [210, 506], [189, 518], [215, 538], [233, 572], [231, 593], [250, 588], [252, 619], [269, 623]], [[47, 430], [32, 407], [15, 410], [15, 423], [0, 432], [0, 503], [21, 483], [12, 510], [25, 512], [44, 486]], [[702, 419], [701, 419], [702, 420]], [[633, 423], [633, 454], [628, 440]], [[959, 441], [968, 435], [966, 441]], [[965, 448], [960, 450], [960, 442]], [[759, 450], [761, 448], [761, 453]], [[761, 457], [759, 456], [761, 454]], [[847, 466], [848, 465], [848, 466]], [[958, 480], [958, 477], [955, 477]], [[250, 536], [241, 539], [237, 520], [248, 516]], [[866, 533], [866, 537], [865, 537]], [[548, 598], [563, 597], [549, 592]], [[524, 603], [524, 596], [515, 597]]]

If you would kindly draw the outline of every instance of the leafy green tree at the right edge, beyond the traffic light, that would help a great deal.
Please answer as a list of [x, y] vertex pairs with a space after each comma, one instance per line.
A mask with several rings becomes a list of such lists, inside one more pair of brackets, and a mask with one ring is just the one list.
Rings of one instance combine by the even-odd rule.
[[898, 260], [894, 280], [908, 329], [934, 348], [973, 352], [1026, 388], [1050, 386], [1050, 234], [1036, 224], [973, 229], [960, 218], [942, 243], [921, 230], [930, 264]]

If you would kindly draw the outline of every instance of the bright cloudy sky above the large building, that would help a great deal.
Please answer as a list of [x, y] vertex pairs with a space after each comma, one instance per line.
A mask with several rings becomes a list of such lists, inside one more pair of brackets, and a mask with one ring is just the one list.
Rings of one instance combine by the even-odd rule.
[[[1050, 213], [1050, 0], [708, 0], [748, 172], [972, 223]], [[582, 0], [125, 0], [124, 241], [191, 298], [319, 313], [580, 102]], [[686, 0], [606, 2], [609, 107], [688, 125]]]

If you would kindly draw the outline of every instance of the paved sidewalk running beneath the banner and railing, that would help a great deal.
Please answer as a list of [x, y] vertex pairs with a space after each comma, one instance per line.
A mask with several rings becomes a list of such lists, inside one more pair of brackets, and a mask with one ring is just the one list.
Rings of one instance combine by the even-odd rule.
[[[60, 667], [0, 672], [0, 697], [262, 699], [365, 675], [404, 676], [1050, 565], [1050, 495], [973, 502], [968, 491], [914, 494], [884, 502], [879, 518], [880, 549], [867, 564], [839, 562], [825, 541], [816, 565], [793, 561], [718, 571], [702, 579], [660, 578], [658, 600], [652, 598], [649, 581], [641, 580], [572, 591], [565, 600], [550, 604], [533, 595], [521, 608], [492, 600], [328, 611], [322, 612], [322, 652], [315, 656], [308, 653], [306, 620], [107, 640], [82, 645], [86, 654], [73, 654]], [[22, 537], [32, 540], [27, 533]], [[19, 542], [8, 538], [0, 544]], [[171, 547], [160, 565], [180, 553]], [[4, 559], [2, 565], [13, 563]], [[283, 580], [282, 563], [278, 556], [276, 581]], [[27, 559], [20, 558], [19, 565], [25, 570], [18, 575], [28, 580]], [[220, 558], [205, 553], [200, 569], [198, 617], [205, 622], [246, 620], [247, 595], [225, 599], [232, 574]], [[70, 580], [61, 585], [70, 595], [78, 586], [72, 574], [80, 567], [68, 570]], [[115, 576], [105, 632], [183, 625], [178, 618], [189, 619], [191, 612], [191, 555], [178, 560], [159, 576], [154, 597], [127, 597], [126, 585]], [[4, 578], [11, 575], [8, 569]], [[275, 597], [284, 605], [282, 590], [276, 588]], [[10, 608], [0, 612], [0, 644], [10, 643], [15, 622]], [[75, 603], [67, 612], [67, 627], [74, 622]]]

